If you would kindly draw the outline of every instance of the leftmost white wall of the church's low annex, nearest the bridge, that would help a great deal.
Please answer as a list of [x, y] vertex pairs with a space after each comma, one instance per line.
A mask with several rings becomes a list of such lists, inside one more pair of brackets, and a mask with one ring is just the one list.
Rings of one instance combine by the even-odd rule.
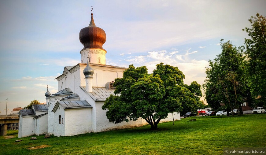
[[20, 116], [20, 127], [18, 138], [35, 135], [34, 119], [35, 116]]

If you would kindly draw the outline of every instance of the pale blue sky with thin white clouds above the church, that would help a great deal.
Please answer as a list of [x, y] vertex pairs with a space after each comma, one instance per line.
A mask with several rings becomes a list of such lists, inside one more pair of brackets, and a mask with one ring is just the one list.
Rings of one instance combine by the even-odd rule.
[[[81, 63], [79, 31], [91, 20], [107, 36], [106, 64], [177, 66], [189, 84], [203, 84], [220, 39], [242, 46], [249, 17], [266, 15], [265, 0], [0, 0], [0, 114], [45, 102], [47, 85]], [[8, 100], [6, 100], [8, 99]], [[204, 99], [204, 98], [202, 98]]]

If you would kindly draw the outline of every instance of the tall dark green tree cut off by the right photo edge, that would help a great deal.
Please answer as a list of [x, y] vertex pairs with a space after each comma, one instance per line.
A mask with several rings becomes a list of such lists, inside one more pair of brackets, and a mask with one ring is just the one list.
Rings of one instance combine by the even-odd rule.
[[266, 18], [256, 14], [251, 16], [251, 28], [245, 28], [249, 38], [245, 38], [247, 65], [246, 73], [251, 95], [255, 98], [266, 98]]

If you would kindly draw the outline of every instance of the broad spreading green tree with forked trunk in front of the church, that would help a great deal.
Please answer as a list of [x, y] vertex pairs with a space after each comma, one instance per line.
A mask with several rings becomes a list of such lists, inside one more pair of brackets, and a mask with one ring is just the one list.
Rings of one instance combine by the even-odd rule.
[[123, 77], [115, 79], [116, 95], [110, 95], [102, 109], [108, 109], [106, 116], [113, 123], [141, 117], [151, 129], [157, 129], [161, 119], [166, 118], [168, 113], [181, 111], [183, 105], [190, 110], [197, 109], [198, 102], [184, 86], [184, 78], [178, 67], [163, 63], [156, 65], [153, 74], [148, 74], [146, 66], [135, 68], [129, 65]]

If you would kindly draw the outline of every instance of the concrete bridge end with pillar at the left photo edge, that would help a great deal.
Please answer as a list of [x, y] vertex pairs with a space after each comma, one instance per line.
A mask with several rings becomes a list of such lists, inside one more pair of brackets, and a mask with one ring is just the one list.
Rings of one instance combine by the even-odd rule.
[[16, 115], [0, 115], [0, 136], [5, 136], [7, 132], [7, 125], [19, 123], [18, 114]]

